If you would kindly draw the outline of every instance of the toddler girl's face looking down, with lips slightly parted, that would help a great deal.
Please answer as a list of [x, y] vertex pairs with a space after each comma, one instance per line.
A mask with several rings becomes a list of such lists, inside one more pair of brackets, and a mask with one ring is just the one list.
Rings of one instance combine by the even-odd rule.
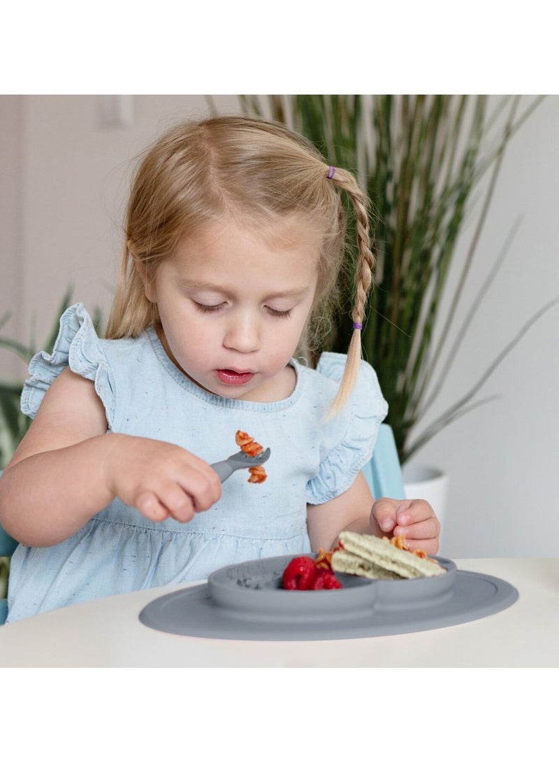
[[176, 365], [224, 398], [269, 402], [291, 394], [287, 369], [316, 291], [318, 242], [294, 221], [290, 239], [233, 222], [182, 240], [146, 283]]

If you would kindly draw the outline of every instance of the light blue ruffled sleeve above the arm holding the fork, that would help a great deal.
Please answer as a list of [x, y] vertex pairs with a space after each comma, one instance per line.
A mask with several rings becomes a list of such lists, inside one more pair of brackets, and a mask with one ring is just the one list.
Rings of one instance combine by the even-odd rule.
[[114, 420], [114, 378], [102, 343], [83, 304], [79, 302], [69, 307], [60, 317], [53, 352], [49, 355], [42, 351], [31, 359], [30, 377], [21, 393], [23, 413], [34, 418], [47, 389], [64, 369], [69, 368], [95, 383], [95, 391], [104, 404], [111, 428]]

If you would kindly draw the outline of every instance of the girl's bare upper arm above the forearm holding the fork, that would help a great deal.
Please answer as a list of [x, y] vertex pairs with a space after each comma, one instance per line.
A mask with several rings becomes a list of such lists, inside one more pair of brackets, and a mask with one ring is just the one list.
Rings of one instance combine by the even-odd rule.
[[50, 385], [12, 464], [34, 453], [104, 434], [107, 419], [93, 381], [65, 369]]

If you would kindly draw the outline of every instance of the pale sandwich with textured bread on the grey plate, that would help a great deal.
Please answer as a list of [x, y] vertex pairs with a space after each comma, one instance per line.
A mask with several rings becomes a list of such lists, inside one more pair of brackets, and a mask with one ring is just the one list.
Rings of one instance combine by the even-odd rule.
[[339, 540], [341, 547], [333, 552], [331, 561], [336, 572], [381, 580], [432, 578], [446, 572], [436, 559], [422, 559], [397, 548], [387, 538], [345, 531]]

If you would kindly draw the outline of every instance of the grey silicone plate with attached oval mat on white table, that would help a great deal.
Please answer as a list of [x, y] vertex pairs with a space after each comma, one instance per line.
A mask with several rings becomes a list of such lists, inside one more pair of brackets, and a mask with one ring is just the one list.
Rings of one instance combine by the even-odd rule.
[[333, 591], [284, 591], [292, 556], [257, 559], [212, 573], [207, 583], [150, 602], [140, 621], [181, 636], [250, 641], [307, 641], [390, 636], [477, 620], [514, 604], [518, 591], [500, 578], [458, 570], [445, 575], [368, 581], [336, 576]]

